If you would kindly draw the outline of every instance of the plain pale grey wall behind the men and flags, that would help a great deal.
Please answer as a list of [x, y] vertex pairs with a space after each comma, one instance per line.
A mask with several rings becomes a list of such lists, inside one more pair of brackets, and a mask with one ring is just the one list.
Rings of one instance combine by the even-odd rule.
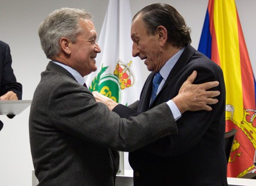
[[[164, 2], [176, 7], [192, 28], [192, 46], [197, 48], [203, 27], [208, 0], [169, 0], [138, 1], [130, 0], [131, 13], [134, 15], [142, 7]], [[256, 1], [236, 0], [243, 34], [245, 36], [253, 71], [256, 73]], [[23, 100], [32, 100], [40, 73], [44, 71], [48, 60], [40, 48], [38, 38], [39, 23], [55, 9], [61, 7], [81, 8], [94, 15], [94, 24], [98, 35], [104, 20], [108, 0], [1, 0], [0, 1], [0, 40], [9, 43], [13, 56], [13, 68], [16, 78], [23, 84]], [[148, 75], [143, 67], [144, 79]], [[1, 115], [4, 123], [0, 131], [0, 185], [31, 185], [32, 159], [28, 136], [29, 109], [9, 119]], [[126, 167], [127, 162], [126, 162]]]

